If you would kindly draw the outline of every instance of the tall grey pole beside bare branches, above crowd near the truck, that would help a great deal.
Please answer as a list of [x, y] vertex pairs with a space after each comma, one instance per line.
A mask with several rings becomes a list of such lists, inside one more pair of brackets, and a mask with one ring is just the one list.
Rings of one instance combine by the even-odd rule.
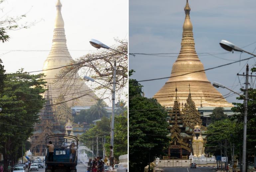
[[112, 90], [112, 115], [111, 115], [111, 138], [110, 146], [114, 147], [114, 121], [115, 121], [115, 92], [116, 92], [116, 61], [113, 68], [113, 90]]

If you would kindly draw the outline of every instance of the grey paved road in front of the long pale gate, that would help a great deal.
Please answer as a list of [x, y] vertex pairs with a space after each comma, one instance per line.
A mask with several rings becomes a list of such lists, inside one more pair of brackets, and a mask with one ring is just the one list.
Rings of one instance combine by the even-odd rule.
[[196, 167], [196, 168], [186, 168], [186, 167], [165, 167], [162, 168], [164, 172], [213, 172], [215, 167]]

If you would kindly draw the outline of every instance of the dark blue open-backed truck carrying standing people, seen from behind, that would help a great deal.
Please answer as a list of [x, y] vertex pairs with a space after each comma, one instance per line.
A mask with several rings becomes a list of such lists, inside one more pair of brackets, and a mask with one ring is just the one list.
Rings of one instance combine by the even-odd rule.
[[[46, 146], [45, 172], [76, 172], [78, 150], [77, 137], [66, 134], [55, 134], [46, 137], [45, 143], [48, 144], [49, 141], [52, 141], [54, 145], [54, 154], [53, 161], [48, 161], [49, 150]], [[70, 147], [72, 144], [75, 145], [75, 147], [72, 146], [71, 150]], [[71, 151], [73, 152], [71, 155], [72, 158], [70, 157]]]

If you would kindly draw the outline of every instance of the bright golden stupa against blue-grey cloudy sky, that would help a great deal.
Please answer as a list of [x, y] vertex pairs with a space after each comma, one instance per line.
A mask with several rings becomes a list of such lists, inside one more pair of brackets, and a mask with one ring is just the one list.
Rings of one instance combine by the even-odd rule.
[[179, 89], [180, 102], [186, 102], [190, 85], [192, 99], [196, 107], [233, 107], [211, 85], [203, 71], [203, 64], [195, 52], [190, 10], [187, 0], [184, 8], [186, 17], [183, 24], [180, 54], [173, 64], [171, 77], [153, 98], [157, 99], [162, 106], [173, 107], [176, 84]]

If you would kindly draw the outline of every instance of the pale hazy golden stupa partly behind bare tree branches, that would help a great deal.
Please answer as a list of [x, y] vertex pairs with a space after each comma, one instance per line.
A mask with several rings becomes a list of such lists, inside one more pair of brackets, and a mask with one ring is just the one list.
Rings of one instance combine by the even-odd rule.
[[[66, 36], [64, 30], [64, 20], [62, 18], [61, 9], [62, 4], [60, 0], [56, 3], [57, 15], [54, 24], [54, 35], [52, 49], [44, 62], [43, 73], [46, 75], [45, 80], [49, 86], [49, 91], [52, 94], [53, 104], [68, 101], [67, 106], [92, 106], [96, 103], [94, 97], [95, 93], [79, 78], [78, 74], [70, 78], [62, 78], [64, 87], [60, 88], [63, 83], [56, 82], [56, 76], [65, 65], [69, 65], [73, 62], [70, 56], [67, 45]], [[47, 70], [52, 68], [58, 68], [53, 70]], [[88, 94], [88, 95], [85, 95]], [[85, 95], [85, 96], [83, 96]], [[81, 97], [80, 97], [81, 96]], [[75, 99], [80, 97], [79, 99]]]

